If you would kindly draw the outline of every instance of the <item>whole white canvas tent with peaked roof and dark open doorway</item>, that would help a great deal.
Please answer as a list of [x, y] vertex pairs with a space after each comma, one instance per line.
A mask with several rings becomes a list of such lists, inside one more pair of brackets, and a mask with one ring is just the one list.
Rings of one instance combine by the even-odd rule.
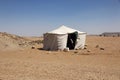
[[64, 50], [83, 49], [86, 40], [86, 32], [60, 26], [58, 29], [44, 34], [43, 49], [45, 50]]

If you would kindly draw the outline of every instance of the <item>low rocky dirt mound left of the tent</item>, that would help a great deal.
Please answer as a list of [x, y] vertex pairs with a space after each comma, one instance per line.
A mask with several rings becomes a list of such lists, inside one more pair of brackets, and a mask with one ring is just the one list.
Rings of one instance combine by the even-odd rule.
[[0, 50], [20, 49], [39, 44], [39, 40], [33, 41], [25, 37], [0, 32]]

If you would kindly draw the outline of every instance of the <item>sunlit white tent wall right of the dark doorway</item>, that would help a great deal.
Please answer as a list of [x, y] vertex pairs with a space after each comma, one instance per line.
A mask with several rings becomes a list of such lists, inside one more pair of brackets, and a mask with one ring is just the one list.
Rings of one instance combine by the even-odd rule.
[[84, 49], [86, 34], [78, 34], [75, 49]]

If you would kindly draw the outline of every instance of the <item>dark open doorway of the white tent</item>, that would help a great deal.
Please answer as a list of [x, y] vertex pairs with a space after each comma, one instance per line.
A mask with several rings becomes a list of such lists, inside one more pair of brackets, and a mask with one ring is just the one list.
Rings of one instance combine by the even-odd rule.
[[69, 49], [75, 48], [77, 37], [78, 37], [78, 32], [73, 32], [68, 34], [67, 47]]

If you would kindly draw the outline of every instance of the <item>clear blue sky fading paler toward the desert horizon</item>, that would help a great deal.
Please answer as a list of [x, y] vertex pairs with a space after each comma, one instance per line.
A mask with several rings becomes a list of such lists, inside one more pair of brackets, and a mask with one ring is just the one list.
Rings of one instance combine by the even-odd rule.
[[0, 0], [0, 32], [41, 36], [61, 25], [120, 32], [120, 0]]

